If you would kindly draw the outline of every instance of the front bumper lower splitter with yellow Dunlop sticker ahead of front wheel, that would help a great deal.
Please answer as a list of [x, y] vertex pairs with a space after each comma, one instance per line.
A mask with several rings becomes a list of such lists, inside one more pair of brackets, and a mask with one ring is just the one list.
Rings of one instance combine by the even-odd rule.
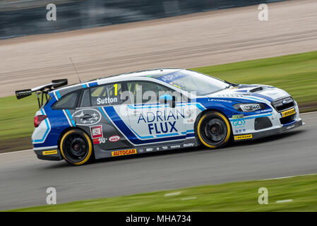
[[258, 138], [263, 138], [265, 136], [272, 136], [278, 133], [289, 131], [291, 129], [296, 129], [300, 126], [304, 126], [304, 122], [301, 119], [294, 121], [292, 124], [287, 124], [287, 126], [282, 126], [277, 129], [270, 129], [266, 131], [256, 132], [256, 133], [245, 133], [234, 136], [234, 141], [246, 141], [246, 140], [255, 140]]

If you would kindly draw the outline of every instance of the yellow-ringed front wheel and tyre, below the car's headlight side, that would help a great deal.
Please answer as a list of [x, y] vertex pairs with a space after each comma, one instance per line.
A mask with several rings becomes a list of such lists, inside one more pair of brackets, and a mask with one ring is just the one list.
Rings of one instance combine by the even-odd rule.
[[207, 112], [198, 120], [196, 133], [199, 141], [208, 148], [221, 148], [232, 134], [229, 120], [220, 112]]

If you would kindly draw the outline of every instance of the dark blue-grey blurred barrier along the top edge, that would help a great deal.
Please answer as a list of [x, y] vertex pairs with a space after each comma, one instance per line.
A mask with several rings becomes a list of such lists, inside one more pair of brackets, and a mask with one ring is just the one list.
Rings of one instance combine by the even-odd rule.
[[[282, 0], [1, 0], [0, 38], [94, 28]], [[47, 4], [57, 20], [46, 20]]]

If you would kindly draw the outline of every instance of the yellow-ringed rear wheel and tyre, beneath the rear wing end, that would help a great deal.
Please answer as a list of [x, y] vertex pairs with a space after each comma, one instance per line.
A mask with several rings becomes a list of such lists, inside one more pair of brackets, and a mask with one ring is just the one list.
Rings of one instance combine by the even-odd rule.
[[59, 143], [61, 155], [72, 165], [83, 165], [92, 158], [92, 143], [87, 133], [78, 129], [67, 131]]

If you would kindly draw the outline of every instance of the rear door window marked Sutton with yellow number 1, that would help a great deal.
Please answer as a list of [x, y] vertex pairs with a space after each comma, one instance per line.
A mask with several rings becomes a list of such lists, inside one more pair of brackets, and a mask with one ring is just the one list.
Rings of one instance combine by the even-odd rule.
[[90, 88], [91, 105], [120, 105], [121, 104], [121, 83], [110, 85], [101, 85], [96, 88]]

